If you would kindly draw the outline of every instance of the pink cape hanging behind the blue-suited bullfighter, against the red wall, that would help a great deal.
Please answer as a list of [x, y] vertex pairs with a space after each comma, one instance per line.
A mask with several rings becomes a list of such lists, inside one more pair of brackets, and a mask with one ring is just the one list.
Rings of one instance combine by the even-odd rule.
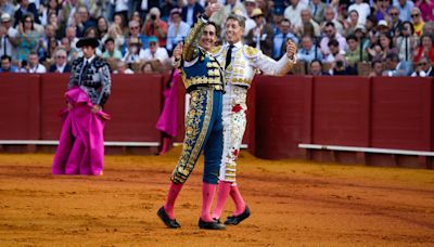
[[178, 69], [171, 76], [171, 87], [164, 90], [164, 106], [156, 122], [156, 129], [175, 138], [177, 135], [178, 125], [178, 80], [180, 79]]

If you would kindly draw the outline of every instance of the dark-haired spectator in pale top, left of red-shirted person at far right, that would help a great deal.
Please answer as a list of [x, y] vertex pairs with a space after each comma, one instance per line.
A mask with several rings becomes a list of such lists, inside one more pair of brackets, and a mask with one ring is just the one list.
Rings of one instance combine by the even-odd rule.
[[399, 60], [413, 61], [414, 52], [418, 47], [418, 36], [414, 35], [413, 25], [410, 22], [403, 23], [403, 30], [395, 40]]

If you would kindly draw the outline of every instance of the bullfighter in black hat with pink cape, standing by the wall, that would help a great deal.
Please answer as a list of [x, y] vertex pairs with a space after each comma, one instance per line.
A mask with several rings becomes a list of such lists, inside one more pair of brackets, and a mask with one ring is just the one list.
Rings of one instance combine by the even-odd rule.
[[95, 55], [99, 41], [82, 38], [77, 42], [84, 56], [73, 62], [65, 98], [69, 110], [63, 123], [53, 174], [101, 176], [104, 165], [102, 112], [111, 93], [108, 65]]

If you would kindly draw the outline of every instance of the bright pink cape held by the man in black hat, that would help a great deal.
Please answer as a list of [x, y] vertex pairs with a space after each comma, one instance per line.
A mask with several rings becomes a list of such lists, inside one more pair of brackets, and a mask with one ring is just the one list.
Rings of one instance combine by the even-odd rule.
[[53, 174], [102, 174], [104, 167], [104, 121], [110, 116], [92, 113], [88, 94], [75, 87], [65, 93], [73, 108], [62, 112], [63, 127], [55, 152]]

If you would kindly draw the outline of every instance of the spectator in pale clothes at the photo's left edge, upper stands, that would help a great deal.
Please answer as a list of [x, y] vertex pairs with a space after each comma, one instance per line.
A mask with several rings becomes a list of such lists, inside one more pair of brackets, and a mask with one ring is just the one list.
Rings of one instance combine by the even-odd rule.
[[3, 13], [0, 25], [0, 56], [9, 55], [16, 58], [17, 35], [18, 31], [12, 27], [11, 15]]

